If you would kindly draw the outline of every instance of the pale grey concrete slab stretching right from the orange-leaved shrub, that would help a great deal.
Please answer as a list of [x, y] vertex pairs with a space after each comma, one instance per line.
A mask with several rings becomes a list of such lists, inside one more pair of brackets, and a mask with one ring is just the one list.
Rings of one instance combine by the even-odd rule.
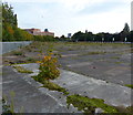
[[86, 77], [64, 70], [61, 71], [61, 77], [53, 82], [68, 88], [73, 94], [103, 98], [110, 105], [131, 105], [132, 90], [119, 84], [106, 83], [105, 81]]

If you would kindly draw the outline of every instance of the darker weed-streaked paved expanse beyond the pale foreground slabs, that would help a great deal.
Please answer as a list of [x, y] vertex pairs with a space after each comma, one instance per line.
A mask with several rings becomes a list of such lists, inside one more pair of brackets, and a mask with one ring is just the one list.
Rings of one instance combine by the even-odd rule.
[[20, 50], [22, 55], [3, 55], [3, 64], [39, 60], [38, 54], [51, 46], [62, 55], [59, 63], [64, 70], [121, 85], [133, 82], [131, 45], [123, 43], [34, 43]]

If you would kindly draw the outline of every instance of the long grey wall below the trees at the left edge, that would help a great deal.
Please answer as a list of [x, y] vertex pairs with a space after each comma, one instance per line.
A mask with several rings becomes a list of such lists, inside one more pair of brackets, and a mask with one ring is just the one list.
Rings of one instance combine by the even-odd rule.
[[22, 41], [22, 42], [0, 42], [0, 48], [2, 48], [2, 50], [0, 50], [0, 54], [4, 54], [8, 53], [10, 51], [17, 50], [20, 46], [25, 46], [29, 45], [30, 43], [32, 43], [31, 41]]

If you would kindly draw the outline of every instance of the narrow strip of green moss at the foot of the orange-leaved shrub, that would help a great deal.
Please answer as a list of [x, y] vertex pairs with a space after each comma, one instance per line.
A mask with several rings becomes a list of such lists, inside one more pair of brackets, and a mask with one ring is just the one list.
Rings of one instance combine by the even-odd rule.
[[50, 81], [48, 81], [48, 80], [43, 80], [43, 81], [42, 81], [42, 80], [39, 80], [38, 76], [31, 76], [31, 77], [33, 77], [35, 81], [42, 83], [42, 84], [43, 84], [42, 87], [47, 87], [47, 88], [49, 88], [49, 90], [51, 90], [51, 91], [62, 92], [64, 95], [68, 95], [68, 94], [69, 94], [69, 92], [66, 92], [66, 90], [65, 90], [64, 87], [61, 87], [61, 86], [59, 86], [59, 85], [55, 84], [55, 83], [52, 83], [52, 82], [50, 82]]

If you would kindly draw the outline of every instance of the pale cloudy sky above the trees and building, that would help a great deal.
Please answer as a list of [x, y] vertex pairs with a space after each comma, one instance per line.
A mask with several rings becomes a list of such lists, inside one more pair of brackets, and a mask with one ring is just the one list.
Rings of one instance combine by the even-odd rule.
[[85, 30], [120, 32], [131, 27], [132, 0], [3, 0], [18, 14], [19, 28], [48, 29], [55, 36]]

